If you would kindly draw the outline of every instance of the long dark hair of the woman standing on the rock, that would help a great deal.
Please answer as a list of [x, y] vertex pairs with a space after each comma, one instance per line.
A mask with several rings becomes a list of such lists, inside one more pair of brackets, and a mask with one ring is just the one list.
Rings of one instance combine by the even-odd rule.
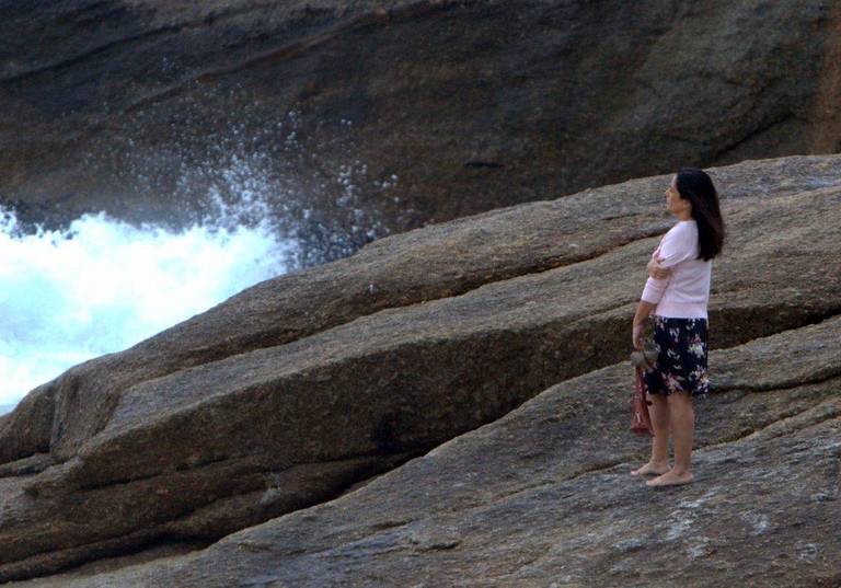
[[712, 260], [724, 246], [724, 219], [718, 208], [718, 192], [706, 172], [681, 168], [675, 181], [680, 197], [692, 204], [692, 218], [698, 222], [699, 257]]

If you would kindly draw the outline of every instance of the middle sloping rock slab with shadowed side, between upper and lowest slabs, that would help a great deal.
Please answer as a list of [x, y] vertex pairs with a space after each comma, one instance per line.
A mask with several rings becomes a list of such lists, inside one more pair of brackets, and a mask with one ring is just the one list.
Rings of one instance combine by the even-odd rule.
[[[716, 264], [712, 348], [841, 310], [841, 187], [727, 205], [731, 240]], [[65, 428], [56, 436], [78, 449], [65, 461], [72, 446], [59, 443], [50, 459], [5, 469], [0, 577], [172, 537], [222, 537], [329, 499], [557, 381], [623, 360], [655, 245], [632, 241], [580, 263], [382, 310], [105, 397], [60, 395], [67, 418], [54, 422]], [[97, 413], [103, 405], [112, 408]], [[97, 414], [102, 426], [87, 429]], [[15, 414], [5, 423], [14, 430], [21, 422]], [[39, 473], [19, 475], [26, 472]]]

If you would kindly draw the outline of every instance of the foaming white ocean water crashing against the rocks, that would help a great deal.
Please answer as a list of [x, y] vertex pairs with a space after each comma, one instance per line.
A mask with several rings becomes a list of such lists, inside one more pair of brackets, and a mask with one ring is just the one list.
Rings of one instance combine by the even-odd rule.
[[22, 234], [0, 208], [0, 414], [68, 368], [118, 351], [285, 274], [298, 246], [243, 195], [180, 231], [100, 212]]

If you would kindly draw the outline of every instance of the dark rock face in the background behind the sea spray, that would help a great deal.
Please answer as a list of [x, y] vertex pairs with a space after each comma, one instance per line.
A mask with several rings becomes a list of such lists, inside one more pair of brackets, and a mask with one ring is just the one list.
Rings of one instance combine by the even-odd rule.
[[832, 5], [2, 1], [0, 195], [30, 222], [183, 224], [257, 192], [312, 265], [681, 164], [836, 152]]

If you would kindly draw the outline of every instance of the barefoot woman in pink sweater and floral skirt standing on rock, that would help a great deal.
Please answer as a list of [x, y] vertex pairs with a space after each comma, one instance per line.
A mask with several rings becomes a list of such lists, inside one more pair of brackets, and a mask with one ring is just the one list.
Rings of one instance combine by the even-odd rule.
[[[634, 315], [633, 344], [643, 348], [648, 315], [658, 357], [643, 374], [652, 400], [652, 458], [633, 475], [659, 474], [648, 486], [692, 482], [693, 399], [706, 399], [707, 314], [712, 260], [724, 244], [718, 193], [706, 173], [681, 168], [666, 191], [666, 205], [678, 222], [663, 237], [646, 266], [649, 274]], [[675, 466], [669, 469], [669, 433]]]

